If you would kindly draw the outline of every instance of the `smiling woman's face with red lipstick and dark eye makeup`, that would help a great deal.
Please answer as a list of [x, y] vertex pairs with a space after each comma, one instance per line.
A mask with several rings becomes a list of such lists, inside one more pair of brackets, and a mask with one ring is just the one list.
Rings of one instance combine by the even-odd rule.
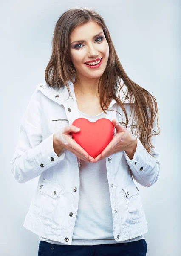
[[[76, 27], [70, 35], [70, 55], [79, 77], [99, 78], [102, 76], [109, 57], [109, 45], [102, 27], [92, 21]], [[87, 61], [101, 57], [101, 62], [95, 68], [85, 64]]]

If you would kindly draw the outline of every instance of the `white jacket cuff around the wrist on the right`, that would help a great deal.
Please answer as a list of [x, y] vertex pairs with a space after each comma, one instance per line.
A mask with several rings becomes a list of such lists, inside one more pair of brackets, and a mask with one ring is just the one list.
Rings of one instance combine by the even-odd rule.
[[138, 175], [140, 173], [147, 171], [148, 169], [148, 152], [146, 148], [144, 148], [144, 146], [142, 145], [139, 138], [137, 136], [136, 138], [137, 147], [133, 159], [130, 160], [125, 151], [124, 156], [127, 160], [128, 165], [130, 166], [131, 171]]

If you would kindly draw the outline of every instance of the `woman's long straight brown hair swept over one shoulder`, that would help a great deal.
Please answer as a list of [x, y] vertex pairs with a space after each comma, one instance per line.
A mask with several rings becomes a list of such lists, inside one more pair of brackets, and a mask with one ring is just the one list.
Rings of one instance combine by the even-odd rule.
[[[160, 133], [156, 99], [146, 89], [134, 83], [127, 76], [116, 54], [116, 50], [113, 46], [107, 26], [105, 25], [105, 21], [98, 12], [89, 8], [74, 7], [68, 9], [59, 17], [54, 29], [52, 55], [45, 70], [45, 81], [50, 87], [53, 88], [59, 88], [65, 85], [70, 96], [71, 92], [69, 90], [68, 82], [71, 81], [76, 85], [76, 80], [78, 80], [78, 77], [74, 65], [71, 61], [69, 61], [71, 58], [69, 36], [77, 26], [91, 21], [98, 23], [102, 27], [105, 38], [109, 45], [107, 67], [100, 77], [98, 83], [101, 108], [105, 112], [104, 106], [107, 106], [107, 102], [110, 99], [115, 99], [125, 114], [125, 127], [127, 128], [128, 118], [124, 108], [124, 102], [122, 102], [119, 97], [116, 96], [115, 89], [115, 81], [119, 81], [120, 85], [121, 78], [124, 81], [124, 84], [127, 86], [127, 95], [129, 94], [130, 96], [130, 102], [133, 98], [135, 101], [134, 104], [130, 103], [130, 105], [131, 113], [134, 105], [133, 120], [136, 119], [136, 136], [150, 154], [150, 147], [155, 148], [151, 144], [151, 136], [158, 135]], [[75, 81], [72, 80], [72, 76], [76, 78]], [[120, 90], [121, 88], [122, 87], [120, 87]], [[128, 98], [129, 96], [127, 95], [126, 97]], [[156, 131], [153, 129], [153, 122], [156, 117], [158, 133], [156, 133]], [[153, 133], [152, 129], [155, 133]], [[131, 128], [131, 130], [133, 132], [133, 128]]]

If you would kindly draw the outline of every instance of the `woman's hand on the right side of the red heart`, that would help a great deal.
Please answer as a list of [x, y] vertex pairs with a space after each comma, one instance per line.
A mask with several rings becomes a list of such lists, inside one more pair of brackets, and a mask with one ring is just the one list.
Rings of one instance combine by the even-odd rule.
[[107, 147], [99, 154], [95, 159], [94, 163], [102, 160], [111, 154], [125, 150], [126, 153], [134, 154], [137, 147], [137, 138], [127, 128], [122, 126], [119, 122], [116, 124], [116, 119], [112, 121], [116, 128], [116, 135], [113, 137]]

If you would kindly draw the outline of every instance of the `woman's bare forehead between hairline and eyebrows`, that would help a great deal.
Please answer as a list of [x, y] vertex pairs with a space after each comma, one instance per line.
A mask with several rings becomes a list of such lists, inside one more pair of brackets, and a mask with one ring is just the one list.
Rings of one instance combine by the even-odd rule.
[[70, 41], [92, 38], [99, 32], [103, 32], [102, 27], [94, 21], [77, 26], [70, 35]]

